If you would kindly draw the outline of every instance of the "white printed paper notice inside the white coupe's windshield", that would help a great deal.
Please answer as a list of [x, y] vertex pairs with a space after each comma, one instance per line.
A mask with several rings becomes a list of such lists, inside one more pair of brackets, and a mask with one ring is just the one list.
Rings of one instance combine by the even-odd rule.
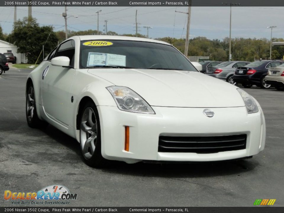
[[108, 54], [108, 53], [89, 52], [87, 67], [109, 66], [109, 65], [117, 65], [125, 67], [126, 56]]

